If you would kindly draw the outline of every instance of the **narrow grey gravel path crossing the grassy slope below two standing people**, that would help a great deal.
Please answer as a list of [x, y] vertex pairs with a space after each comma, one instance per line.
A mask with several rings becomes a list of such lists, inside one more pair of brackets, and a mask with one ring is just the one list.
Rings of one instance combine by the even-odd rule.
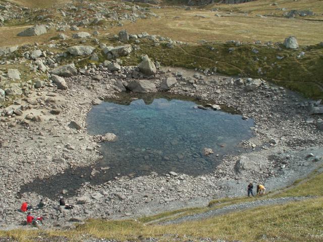
[[265, 206], [265, 205], [277, 205], [277, 204], [283, 204], [283, 203], [287, 203], [287, 202], [301, 201], [306, 198], [308, 198], [308, 197], [273, 198], [273, 199], [256, 200], [256, 201], [252, 201], [252, 202], [233, 204], [233, 205], [229, 205], [229, 206], [226, 206], [226, 207], [223, 207], [220, 209], [214, 209], [214, 210], [209, 210], [209, 211], [203, 212], [203, 213], [188, 215], [188, 216], [177, 218], [174, 220], [161, 222], [159, 224], [168, 225], [168, 224], [181, 223], [181, 222], [192, 221], [192, 220], [197, 220], [197, 219], [205, 219], [205, 218], [212, 217], [212, 216], [223, 215], [223, 214], [227, 214], [230, 212], [236, 212], [238, 210], [240, 211], [240, 210], [256, 208], [259, 206]]

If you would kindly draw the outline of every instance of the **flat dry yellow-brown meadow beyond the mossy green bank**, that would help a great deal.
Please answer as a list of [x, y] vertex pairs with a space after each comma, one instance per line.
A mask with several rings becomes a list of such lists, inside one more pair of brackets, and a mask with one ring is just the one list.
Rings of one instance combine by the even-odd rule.
[[[316, 44], [322, 41], [323, 23], [275, 17], [245, 17], [241, 14], [216, 17], [214, 12], [161, 9], [155, 11], [160, 19], [138, 20], [113, 28], [117, 33], [127, 29], [131, 33], [148, 32], [171, 37], [174, 40], [196, 42], [241, 40], [241, 41], [284, 41], [295, 35], [300, 44]], [[196, 17], [196, 15], [205, 16]]]

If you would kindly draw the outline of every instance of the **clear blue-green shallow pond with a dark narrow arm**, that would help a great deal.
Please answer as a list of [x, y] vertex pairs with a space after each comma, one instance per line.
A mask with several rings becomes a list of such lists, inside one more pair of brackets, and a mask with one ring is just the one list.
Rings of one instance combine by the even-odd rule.
[[[49, 179], [35, 179], [21, 191], [55, 198], [66, 189], [65, 196], [69, 197], [76, 195], [84, 183], [99, 185], [116, 176], [135, 177], [152, 171], [206, 174], [216, 169], [225, 154], [236, 153], [238, 143], [252, 136], [252, 119], [198, 109], [187, 98], [149, 95], [133, 101], [129, 98], [104, 102], [88, 113], [87, 128], [91, 135], [118, 136], [116, 142], [101, 143], [102, 160], [87, 167], [67, 169]], [[205, 156], [206, 147], [214, 154]]]

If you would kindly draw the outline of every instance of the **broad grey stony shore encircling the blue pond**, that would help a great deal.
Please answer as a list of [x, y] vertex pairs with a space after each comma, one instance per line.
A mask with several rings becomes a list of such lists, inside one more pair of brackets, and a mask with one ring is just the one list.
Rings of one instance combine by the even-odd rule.
[[[53, 81], [0, 109], [1, 229], [21, 225], [25, 214], [17, 209], [23, 201], [35, 206], [42, 198], [20, 191], [25, 184], [100, 159], [100, 144], [86, 131], [86, 115], [92, 105], [118, 96], [140, 78], [134, 67], [109, 71], [91, 66], [86, 72], [78, 71], [83, 75], [65, 78], [67, 89], [58, 89]], [[323, 133], [316, 126], [320, 114], [311, 114], [321, 108], [320, 102], [303, 99], [263, 80], [183, 69], [161, 69], [144, 82], [155, 84], [157, 88], [150, 91], [157, 91], [168, 78], [173, 78], [166, 88], [171, 93], [226, 105], [243, 118], [253, 118], [254, 137], [241, 142], [239, 155], [227, 155], [207, 175], [152, 173], [115, 177], [96, 186], [87, 183], [77, 191], [78, 196], [66, 200], [75, 204], [72, 210], [59, 207], [58, 199], [44, 198], [48, 206], [34, 212], [44, 217], [44, 227], [64, 229], [86, 218], [119, 219], [205, 206], [212, 198], [245, 195], [250, 181], [261, 182], [267, 191], [273, 191], [305, 177], [322, 163]]]

